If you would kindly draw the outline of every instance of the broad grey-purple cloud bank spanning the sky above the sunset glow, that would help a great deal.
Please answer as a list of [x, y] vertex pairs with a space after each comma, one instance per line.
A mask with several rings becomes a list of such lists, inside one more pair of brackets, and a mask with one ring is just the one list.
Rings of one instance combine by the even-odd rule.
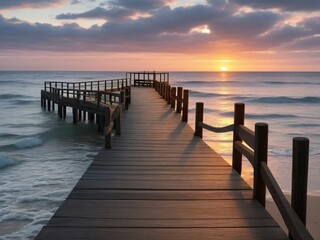
[[[319, 17], [303, 19], [296, 26], [281, 25], [286, 15], [272, 10], [239, 11], [230, 1], [171, 8], [166, 0], [113, 0], [106, 8], [56, 17], [107, 20], [89, 29], [77, 24], [30, 24], [0, 15], [0, 51], [241, 52], [293, 49], [298, 43], [303, 45], [303, 40], [310, 39], [312, 44], [317, 39]], [[149, 15], [128, 18], [144, 11]], [[201, 28], [210, 32], [204, 34]]]

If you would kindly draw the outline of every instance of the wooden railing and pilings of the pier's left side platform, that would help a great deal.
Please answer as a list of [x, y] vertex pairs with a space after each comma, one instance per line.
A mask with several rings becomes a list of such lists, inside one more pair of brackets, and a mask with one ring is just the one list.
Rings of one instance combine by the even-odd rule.
[[72, 108], [73, 123], [88, 119], [96, 121], [98, 131], [105, 135], [105, 148], [111, 148], [112, 130], [121, 134], [122, 109], [131, 101], [131, 84], [126, 78], [86, 82], [45, 82], [41, 106], [48, 111], [58, 105], [59, 116], [66, 117]]

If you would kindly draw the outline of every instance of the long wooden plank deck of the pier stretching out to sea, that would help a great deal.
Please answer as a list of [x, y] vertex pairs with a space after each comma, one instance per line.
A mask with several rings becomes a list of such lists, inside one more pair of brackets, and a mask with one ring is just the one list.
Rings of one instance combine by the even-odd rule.
[[[195, 133], [186, 123], [188, 91], [155, 79], [136, 84], [147, 87], [131, 87], [121, 135], [99, 152], [36, 239], [288, 239], [259, 199], [263, 184], [262, 193], [253, 191], [239, 164], [230, 166], [199, 137], [203, 129], [235, 125], [210, 128], [198, 106]], [[241, 129], [238, 153], [263, 158], [257, 145], [241, 145], [255, 145], [252, 132]], [[294, 231], [293, 239], [312, 239], [305, 228]]]

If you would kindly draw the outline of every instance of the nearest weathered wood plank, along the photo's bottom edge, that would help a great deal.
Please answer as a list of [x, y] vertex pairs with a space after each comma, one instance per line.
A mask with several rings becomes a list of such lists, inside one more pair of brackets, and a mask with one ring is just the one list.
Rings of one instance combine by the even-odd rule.
[[234, 240], [288, 239], [277, 227], [267, 228], [84, 228], [45, 227], [38, 240], [95, 239], [95, 240]]

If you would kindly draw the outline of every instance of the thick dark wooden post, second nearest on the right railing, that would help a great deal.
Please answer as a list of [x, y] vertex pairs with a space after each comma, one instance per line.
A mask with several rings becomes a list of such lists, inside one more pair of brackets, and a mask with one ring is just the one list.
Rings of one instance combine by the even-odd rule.
[[268, 124], [256, 123], [254, 144], [254, 178], [253, 198], [257, 199], [262, 206], [266, 206], [266, 184], [261, 175], [261, 163], [268, 162]]

